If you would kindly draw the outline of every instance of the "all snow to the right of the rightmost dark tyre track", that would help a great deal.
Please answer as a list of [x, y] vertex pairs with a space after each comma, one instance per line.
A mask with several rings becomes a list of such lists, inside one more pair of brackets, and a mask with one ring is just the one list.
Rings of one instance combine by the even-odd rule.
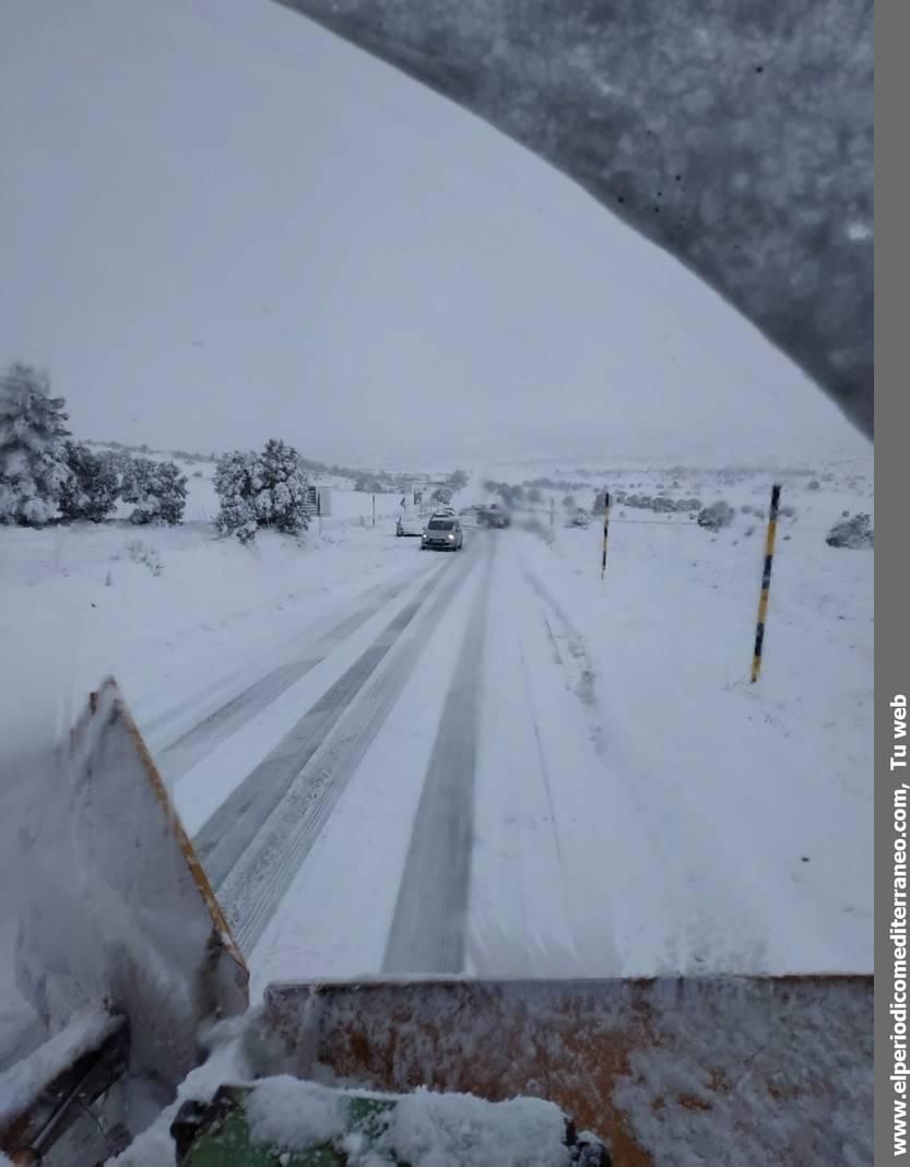
[[785, 485], [755, 685], [770, 484], [698, 485], [732, 527], [617, 504], [601, 581], [600, 525], [551, 536], [544, 510], [498, 566], [481, 970], [531, 973], [536, 946], [589, 973], [872, 970], [873, 554], [825, 545], [870, 485]]

